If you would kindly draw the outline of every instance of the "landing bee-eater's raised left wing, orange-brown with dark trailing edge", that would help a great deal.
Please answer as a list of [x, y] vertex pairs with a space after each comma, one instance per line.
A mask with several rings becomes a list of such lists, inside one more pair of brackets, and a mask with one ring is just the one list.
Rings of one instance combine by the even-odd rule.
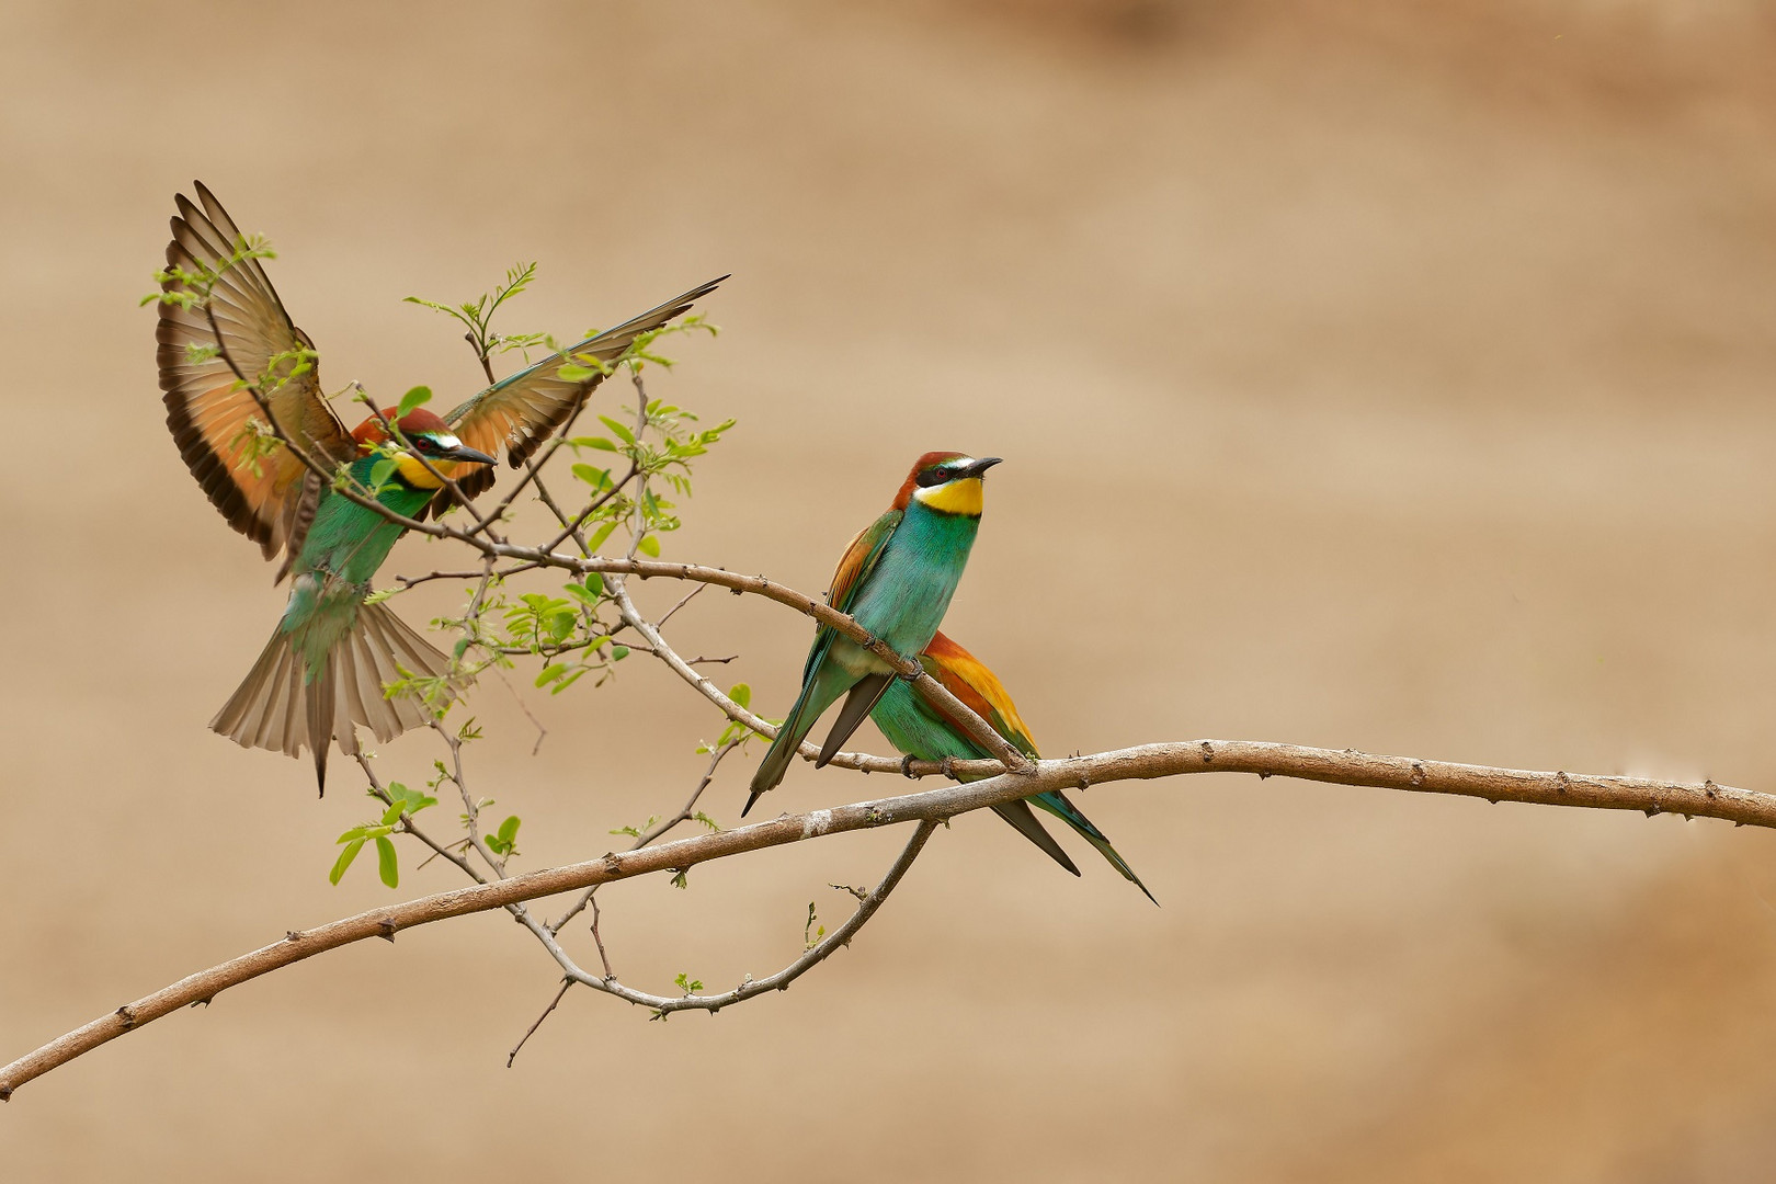
[[[201, 181], [197, 201], [176, 195], [167, 270], [202, 277], [169, 277], [162, 289], [186, 293], [190, 307], [160, 305], [155, 360], [165, 392], [167, 428], [179, 456], [227, 524], [259, 543], [266, 559], [300, 547], [320, 483], [286, 447], [268, 447], [256, 426], [265, 410], [236, 373], [261, 383], [277, 424], [323, 463], [350, 460], [357, 449], [345, 424], [321, 398], [313, 360], [302, 367], [289, 355], [313, 350], [309, 335], [289, 323], [272, 280], [258, 259], [243, 259], [245, 238]], [[208, 277], [215, 277], [210, 280]], [[201, 291], [210, 284], [208, 296]], [[302, 371], [302, 373], [298, 373]], [[307, 492], [307, 497], [304, 495]]]

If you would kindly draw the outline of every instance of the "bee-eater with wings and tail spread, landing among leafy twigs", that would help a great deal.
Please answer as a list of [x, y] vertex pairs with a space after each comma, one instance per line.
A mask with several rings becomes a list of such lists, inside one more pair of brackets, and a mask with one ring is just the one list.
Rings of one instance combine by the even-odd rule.
[[[424, 518], [453, 497], [440, 478], [474, 497], [494, 483], [499, 451], [517, 469], [574, 417], [604, 375], [563, 378], [568, 355], [609, 366], [726, 277], [554, 353], [448, 415], [421, 407], [396, 422], [389, 408], [346, 433], [321, 394], [314, 343], [291, 323], [222, 204], [202, 183], [195, 192], [197, 202], [174, 199], [162, 273], [155, 357], [167, 428], [229, 525], [259, 543], [266, 559], [282, 552], [277, 582], [293, 577], [270, 643], [210, 726], [245, 747], [288, 756], [307, 747], [325, 792], [329, 742], [355, 754], [359, 724], [387, 742], [428, 722], [423, 703], [387, 698], [385, 685], [405, 675], [448, 676], [451, 662], [385, 605], [364, 602], [403, 527], [336, 492], [293, 449], [268, 438], [266, 415], [320, 465], [346, 465], [384, 506]], [[396, 438], [384, 421], [394, 422]], [[396, 463], [377, 486], [373, 472], [385, 454]], [[442, 696], [451, 694], [444, 683]]]

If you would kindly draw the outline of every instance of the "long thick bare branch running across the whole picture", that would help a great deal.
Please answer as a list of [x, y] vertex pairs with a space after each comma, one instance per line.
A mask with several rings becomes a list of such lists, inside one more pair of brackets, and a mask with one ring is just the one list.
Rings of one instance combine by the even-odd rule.
[[1739, 825], [1776, 827], [1776, 793], [1739, 790], [1714, 781], [1680, 783], [1648, 777], [1611, 777], [1568, 772], [1529, 772], [1487, 765], [1376, 756], [1352, 749], [1314, 749], [1256, 740], [1193, 740], [1183, 744], [1147, 744], [1140, 747], [1043, 760], [1030, 774], [1002, 774], [968, 785], [886, 797], [803, 815], [781, 815], [733, 831], [645, 847], [627, 854], [561, 868], [529, 872], [490, 884], [369, 909], [313, 930], [291, 932], [284, 941], [222, 962], [183, 978], [170, 987], [126, 1003], [41, 1049], [0, 1069], [0, 1101], [18, 1086], [64, 1065], [83, 1053], [176, 1012], [204, 1003], [222, 991], [311, 959], [327, 950], [369, 937], [392, 939], [403, 928], [430, 925], [448, 918], [503, 909], [538, 896], [632, 879], [654, 872], [680, 872], [712, 859], [726, 859], [749, 850], [799, 843], [828, 834], [863, 831], [902, 822], [941, 822], [971, 809], [1003, 804], [1044, 790], [1083, 788], [1106, 781], [1170, 777], [1190, 772], [1250, 772], [1259, 777], [1298, 777], [1336, 785], [1408, 790], [1419, 793], [1456, 793], [1488, 801], [1536, 802], [1543, 806], [1584, 806], [1593, 809], [1639, 809], [1646, 815], [1675, 813], [1723, 818]]

